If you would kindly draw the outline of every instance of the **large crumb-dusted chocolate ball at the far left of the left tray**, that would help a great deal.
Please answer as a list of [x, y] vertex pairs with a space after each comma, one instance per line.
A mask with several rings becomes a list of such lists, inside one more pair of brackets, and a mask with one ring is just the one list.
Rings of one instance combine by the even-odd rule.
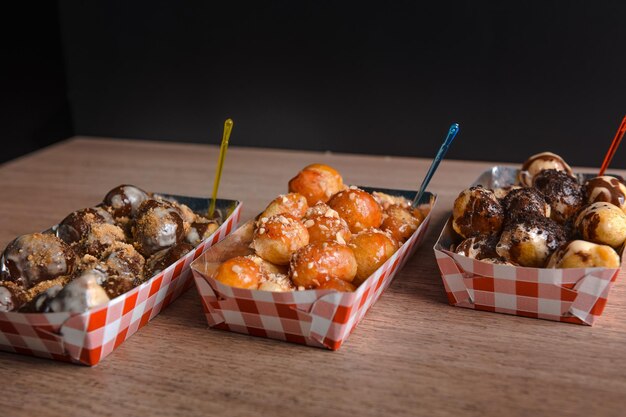
[[13, 240], [2, 255], [3, 279], [30, 288], [39, 282], [71, 275], [77, 262], [72, 248], [53, 234], [32, 233]]

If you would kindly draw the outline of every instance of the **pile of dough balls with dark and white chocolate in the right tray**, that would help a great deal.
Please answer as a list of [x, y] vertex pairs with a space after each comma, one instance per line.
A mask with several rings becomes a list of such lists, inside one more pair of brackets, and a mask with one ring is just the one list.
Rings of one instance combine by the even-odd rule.
[[619, 268], [625, 212], [626, 187], [617, 178], [581, 184], [563, 158], [543, 152], [523, 164], [516, 185], [459, 194], [452, 227], [464, 240], [451, 250], [496, 264]]

